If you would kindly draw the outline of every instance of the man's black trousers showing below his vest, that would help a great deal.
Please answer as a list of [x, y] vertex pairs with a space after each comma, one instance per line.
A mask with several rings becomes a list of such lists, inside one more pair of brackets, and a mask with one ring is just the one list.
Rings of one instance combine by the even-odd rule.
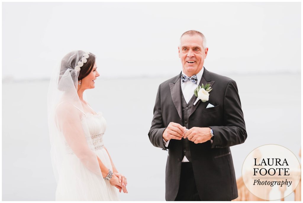
[[191, 162], [181, 163], [179, 190], [175, 201], [201, 201]]

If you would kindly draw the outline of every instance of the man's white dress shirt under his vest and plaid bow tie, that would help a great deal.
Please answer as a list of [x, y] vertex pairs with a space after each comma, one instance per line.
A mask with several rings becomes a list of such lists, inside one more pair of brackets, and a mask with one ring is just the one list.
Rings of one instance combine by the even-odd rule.
[[[203, 71], [204, 71], [204, 67], [202, 67], [200, 72], [197, 73], [197, 79], [198, 79], [197, 84], [195, 84], [191, 81], [186, 81], [185, 83], [182, 83], [182, 81], [181, 81], [181, 90], [182, 90], [183, 97], [184, 97], [186, 103], [188, 103], [189, 100], [191, 100], [191, 97], [194, 95], [194, 91], [198, 87], [198, 85], [201, 81]], [[183, 70], [182, 70], [182, 74], [186, 75], [183, 72]], [[189, 77], [188, 75], [186, 75], [186, 76]], [[181, 80], [181, 77], [180, 77], [180, 80]], [[165, 140], [163, 139], [163, 142], [164, 142], [165, 146], [168, 147], [169, 140], [167, 142], [165, 142]], [[184, 158], [182, 159], [182, 162], [189, 162], [188, 159], [186, 158], [186, 156], [184, 156]]]

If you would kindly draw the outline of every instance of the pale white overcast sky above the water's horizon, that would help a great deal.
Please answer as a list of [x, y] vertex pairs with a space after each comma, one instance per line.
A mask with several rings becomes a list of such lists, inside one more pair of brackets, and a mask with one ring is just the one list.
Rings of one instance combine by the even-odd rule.
[[42, 79], [73, 50], [97, 56], [103, 77], [174, 76], [180, 35], [207, 38], [216, 73], [300, 72], [296, 3], [2, 3], [2, 78]]

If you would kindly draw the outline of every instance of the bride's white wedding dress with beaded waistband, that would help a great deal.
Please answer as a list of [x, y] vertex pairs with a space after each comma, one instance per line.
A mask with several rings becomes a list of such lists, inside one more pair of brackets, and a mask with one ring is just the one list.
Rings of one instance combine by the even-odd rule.
[[[83, 119], [84, 116], [85, 119]], [[103, 147], [106, 121], [102, 117], [102, 113], [84, 113], [81, 120], [82, 126], [88, 126], [96, 155], [107, 168], [112, 170], [108, 153]], [[89, 171], [67, 143], [66, 148], [68, 150], [63, 157], [62, 170], [56, 190], [56, 201], [119, 201], [118, 189], [110, 185], [109, 181]]]

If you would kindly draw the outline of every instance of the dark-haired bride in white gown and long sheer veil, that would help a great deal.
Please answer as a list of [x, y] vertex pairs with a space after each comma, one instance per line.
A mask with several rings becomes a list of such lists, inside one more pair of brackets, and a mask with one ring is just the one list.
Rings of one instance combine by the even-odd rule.
[[106, 121], [88, 104], [95, 88], [95, 55], [72, 51], [54, 70], [48, 89], [48, 127], [56, 201], [118, 201], [127, 180], [118, 173], [103, 143]]

